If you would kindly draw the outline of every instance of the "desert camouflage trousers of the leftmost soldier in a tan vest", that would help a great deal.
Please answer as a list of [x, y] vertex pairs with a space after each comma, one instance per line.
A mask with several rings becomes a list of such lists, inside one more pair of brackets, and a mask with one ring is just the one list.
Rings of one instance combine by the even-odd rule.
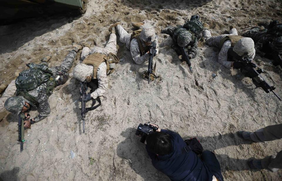
[[108, 55], [109, 53], [117, 54], [117, 36], [115, 34], [111, 34], [108, 43], [105, 48], [101, 48], [95, 46], [93, 49], [89, 49], [88, 47], [84, 47], [81, 52], [80, 60], [84, 60], [89, 54], [101, 53]]

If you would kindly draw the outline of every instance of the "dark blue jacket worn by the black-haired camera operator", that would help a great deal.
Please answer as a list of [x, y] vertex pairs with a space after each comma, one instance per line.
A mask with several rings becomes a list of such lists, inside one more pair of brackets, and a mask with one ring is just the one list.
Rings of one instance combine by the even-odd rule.
[[211, 181], [213, 174], [208, 170], [200, 158], [193, 152], [183, 152], [186, 143], [182, 137], [169, 130], [161, 130], [172, 136], [173, 151], [171, 154], [157, 156], [146, 150], [152, 159], [153, 166], [166, 174], [171, 180], [203, 180]]

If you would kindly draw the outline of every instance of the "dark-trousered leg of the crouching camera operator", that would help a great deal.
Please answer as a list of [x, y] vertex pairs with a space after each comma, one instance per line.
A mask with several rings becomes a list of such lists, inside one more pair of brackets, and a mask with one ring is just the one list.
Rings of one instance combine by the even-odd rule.
[[219, 161], [217, 160], [214, 153], [209, 150], [203, 151], [201, 155], [201, 160], [209, 168], [210, 172], [218, 179], [223, 181], [223, 176], [221, 174], [221, 168]]

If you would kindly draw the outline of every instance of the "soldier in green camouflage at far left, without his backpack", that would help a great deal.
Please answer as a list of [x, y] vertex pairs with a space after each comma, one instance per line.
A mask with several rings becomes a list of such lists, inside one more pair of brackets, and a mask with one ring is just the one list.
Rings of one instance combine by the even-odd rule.
[[[82, 49], [81, 45], [73, 44], [73, 50], [68, 53], [63, 63], [58, 67], [48, 67], [47, 62], [51, 57], [43, 58], [39, 66], [46, 72], [50, 73], [53, 77], [56, 77], [59, 71], [68, 72], [70, 70], [73, 65], [73, 61], [76, 59], [76, 54], [80, 49]], [[65, 82], [66, 80], [61, 82], [58, 81], [56, 85], [62, 85]], [[48, 97], [51, 95], [53, 89], [49, 90], [48, 87], [52, 87], [52, 84], [55, 84], [55, 82], [51, 82], [51, 85], [47, 85], [47, 82], [44, 82], [35, 89], [28, 91], [27, 93], [33, 98], [33, 100], [24, 96], [10, 97], [5, 101], [6, 110], [17, 115], [22, 113], [22, 117], [25, 117], [26, 119], [24, 121], [24, 127], [30, 127], [31, 124], [43, 120], [50, 114], [51, 111], [48, 103]], [[55, 86], [53, 86], [53, 88], [54, 87]], [[28, 114], [31, 106], [37, 107], [40, 110], [39, 115], [32, 119], [30, 119]]]

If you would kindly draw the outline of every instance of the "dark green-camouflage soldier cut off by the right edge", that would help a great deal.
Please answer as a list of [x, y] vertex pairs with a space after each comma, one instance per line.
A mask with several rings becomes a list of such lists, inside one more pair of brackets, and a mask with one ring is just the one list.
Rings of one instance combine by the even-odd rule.
[[254, 40], [257, 54], [272, 59], [274, 66], [280, 65], [282, 68], [282, 24], [278, 24], [278, 21], [272, 21], [268, 29], [263, 26], [253, 27], [243, 36]]

